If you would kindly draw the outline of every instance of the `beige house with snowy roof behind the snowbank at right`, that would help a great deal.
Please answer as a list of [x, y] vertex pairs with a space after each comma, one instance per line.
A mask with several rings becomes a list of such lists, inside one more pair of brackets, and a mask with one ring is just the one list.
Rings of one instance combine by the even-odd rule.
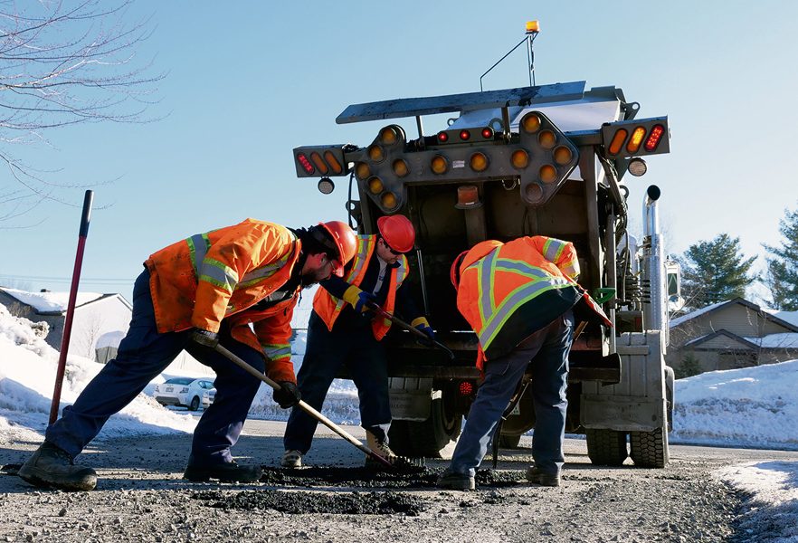
[[761, 366], [798, 358], [798, 311], [777, 311], [742, 298], [670, 320], [665, 359], [699, 372]]

